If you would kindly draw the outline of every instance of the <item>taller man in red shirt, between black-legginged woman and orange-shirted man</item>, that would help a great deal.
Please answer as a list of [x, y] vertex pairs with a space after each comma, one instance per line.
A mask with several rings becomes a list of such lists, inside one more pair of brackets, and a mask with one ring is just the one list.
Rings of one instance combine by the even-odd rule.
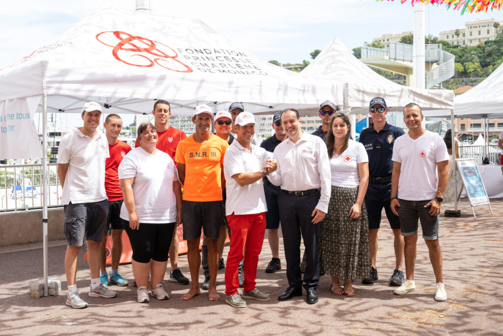
[[[157, 132], [157, 145], [155, 148], [167, 153], [171, 156], [173, 161], [175, 161], [175, 153], [177, 152], [178, 143], [187, 136], [180, 129], [171, 127], [167, 124], [167, 120], [171, 117], [171, 106], [170, 103], [165, 100], [157, 100], [154, 104], [154, 109], [152, 110], [154, 115], [154, 127]], [[139, 143], [136, 140], [135, 147], [138, 147]], [[178, 268], [178, 236], [177, 230], [173, 231], [173, 240], [170, 247], [170, 262], [171, 262], [171, 272], [170, 281], [177, 282], [182, 285], [187, 285], [189, 279], [184, 277], [180, 268]]]

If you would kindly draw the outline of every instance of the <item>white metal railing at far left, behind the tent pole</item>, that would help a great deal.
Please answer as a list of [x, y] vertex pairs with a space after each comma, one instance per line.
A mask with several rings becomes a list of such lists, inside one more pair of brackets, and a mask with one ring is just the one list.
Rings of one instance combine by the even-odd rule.
[[[57, 164], [48, 165], [48, 207], [61, 206]], [[42, 208], [42, 165], [0, 166], [0, 213]]]

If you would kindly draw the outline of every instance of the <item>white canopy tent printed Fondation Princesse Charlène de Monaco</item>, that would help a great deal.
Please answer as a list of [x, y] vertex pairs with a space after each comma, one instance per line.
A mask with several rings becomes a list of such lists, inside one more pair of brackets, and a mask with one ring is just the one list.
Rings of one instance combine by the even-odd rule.
[[[9, 68], [0, 70], [0, 157], [43, 157], [44, 279], [47, 295], [47, 154], [33, 122], [47, 112], [148, 113], [167, 99], [175, 114], [241, 101], [250, 112], [343, 104], [343, 86], [309, 81], [260, 60], [194, 18], [103, 7]], [[222, 105], [222, 106], [220, 106]], [[6, 132], [4, 132], [4, 127]], [[10, 131], [10, 132], [8, 132]]]

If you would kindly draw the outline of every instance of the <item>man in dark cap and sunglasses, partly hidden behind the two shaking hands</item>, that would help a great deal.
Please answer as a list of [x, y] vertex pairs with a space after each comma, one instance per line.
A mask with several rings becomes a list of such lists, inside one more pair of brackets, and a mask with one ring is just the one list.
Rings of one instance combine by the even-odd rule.
[[[276, 112], [273, 116], [273, 129], [274, 134], [268, 139], [264, 140], [260, 147], [264, 148], [266, 151], [274, 153], [276, 146], [281, 144], [286, 138], [286, 132], [281, 124], [281, 112]], [[264, 182], [264, 192], [266, 194], [267, 212], [266, 212], [266, 229], [267, 229], [267, 240], [269, 241], [269, 247], [271, 248], [271, 254], [273, 258], [269, 261], [266, 267], [266, 273], [275, 273], [281, 270], [281, 260], [280, 260], [280, 210], [278, 208], [278, 196], [281, 192], [281, 188], [269, 182], [267, 177]]]

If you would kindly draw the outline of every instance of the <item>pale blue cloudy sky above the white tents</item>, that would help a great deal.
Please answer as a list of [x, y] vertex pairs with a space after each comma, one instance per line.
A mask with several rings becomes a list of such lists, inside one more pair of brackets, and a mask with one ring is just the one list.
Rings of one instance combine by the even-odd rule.
[[[196, 17], [235, 44], [262, 59], [282, 63], [309, 59], [309, 52], [323, 49], [332, 37], [339, 37], [350, 49], [371, 42], [384, 33], [412, 30], [413, 12], [409, 2], [400, 4], [375, 0], [255, 0], [237, 2], [152, 0], [155, 14]], [[95, 12], [102, 4], [134, 10], [134, 0], [3, 2], [0, 14], [0, 69], [48, 44], [75, 23]], [[503, 12], [486, 14], [425, 7], [427, 34], [463, 28], [466, 21], [495, 18]]]

